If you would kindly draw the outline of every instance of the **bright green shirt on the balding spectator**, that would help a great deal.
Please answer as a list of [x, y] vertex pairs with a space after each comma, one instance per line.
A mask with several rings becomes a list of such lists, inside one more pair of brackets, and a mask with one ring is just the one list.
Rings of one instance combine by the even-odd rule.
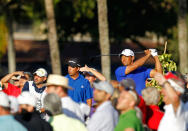
[[144, 131], [142, 122], [136, 116], [136, 110], [129, 110], [121, 114], [114, 131], [124, 131], [126, 128], [133, 128], [135, 131]]

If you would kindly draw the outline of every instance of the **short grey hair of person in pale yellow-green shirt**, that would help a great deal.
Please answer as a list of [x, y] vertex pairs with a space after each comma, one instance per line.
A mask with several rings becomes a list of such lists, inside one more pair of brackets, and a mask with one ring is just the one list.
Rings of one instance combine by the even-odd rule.
[[44, 108], [49, 111], [53, 116], [62, 113], [61, 98], [54, 94], [47, 94], [44, 98]]

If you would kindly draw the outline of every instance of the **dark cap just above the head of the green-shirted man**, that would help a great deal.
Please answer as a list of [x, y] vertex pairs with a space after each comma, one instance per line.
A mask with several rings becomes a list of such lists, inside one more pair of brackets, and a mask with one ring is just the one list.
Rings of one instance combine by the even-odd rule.
[[135, 82], [131, 78], [122, 80], [120, 85], [123, 86], [125, 90], [134, 90], [136, 88]]

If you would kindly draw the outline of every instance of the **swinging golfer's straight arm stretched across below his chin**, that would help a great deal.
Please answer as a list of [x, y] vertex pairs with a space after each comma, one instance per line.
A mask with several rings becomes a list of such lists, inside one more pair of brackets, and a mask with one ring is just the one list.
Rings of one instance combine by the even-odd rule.
[[133, 64], [128, 65], [126, 70], [125, 70], [125, 74], [129, 74], [132, 71], [136, 70], [138, 67], [142, 66], [147, 61], [147, 59], [149, 57], [150, 57], [150, 54], [136, 60]]

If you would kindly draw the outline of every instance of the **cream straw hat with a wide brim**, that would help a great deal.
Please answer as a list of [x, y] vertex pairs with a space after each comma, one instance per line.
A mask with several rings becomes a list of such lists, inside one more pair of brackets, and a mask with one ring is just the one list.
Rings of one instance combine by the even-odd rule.
[[46, 86], [56, 85], [56, 86], [62, 86], [68, 89], [72, 89], [72, 87], [68, 85], [68, 79], [64, 76], [57, 74], [50, 74], [48, 76], [47, 83], [45, 85]]

